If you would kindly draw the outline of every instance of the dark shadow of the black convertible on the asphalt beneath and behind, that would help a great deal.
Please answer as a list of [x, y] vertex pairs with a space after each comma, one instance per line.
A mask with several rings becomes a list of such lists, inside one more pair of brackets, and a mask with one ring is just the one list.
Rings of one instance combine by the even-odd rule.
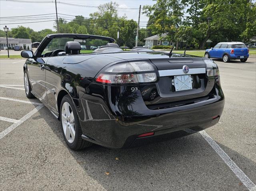
[[[60, 122], [50, 112], [39, 112], [67, 147]], [[256, 164], [219, 145], [230, 157], [239, 159], [238, 166], [242, 165], [253, 181]], [[247, 190], [199, 133], [138, 148], [93, 145], [69, 151], [86, 174], [106, 190]]]

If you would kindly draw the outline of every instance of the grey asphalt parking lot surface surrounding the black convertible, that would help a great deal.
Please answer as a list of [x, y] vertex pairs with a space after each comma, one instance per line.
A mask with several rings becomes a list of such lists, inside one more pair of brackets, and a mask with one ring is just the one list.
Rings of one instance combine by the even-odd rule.
[[24, 62], [0, 60], [0, 190], [256, 190], [255, 56], [216, 60], [226, 98], [217, 125], [125, 150], [70, 150], [60, 122], [26, 98]]

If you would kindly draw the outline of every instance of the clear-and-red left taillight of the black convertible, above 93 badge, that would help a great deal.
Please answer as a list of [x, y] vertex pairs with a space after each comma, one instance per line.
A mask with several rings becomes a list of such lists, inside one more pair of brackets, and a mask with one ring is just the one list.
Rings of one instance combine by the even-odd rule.
[[106, 84], [150, 83], [156, 80], [156, 69], [147, 61], [115, 64], [96, 77], [96, 82]]

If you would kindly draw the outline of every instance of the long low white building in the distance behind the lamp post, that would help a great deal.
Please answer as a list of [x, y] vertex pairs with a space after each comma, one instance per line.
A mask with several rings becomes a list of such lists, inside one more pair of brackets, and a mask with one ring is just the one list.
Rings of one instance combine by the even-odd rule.
[[[14, 48], [14, 46], [19, 45], [23, 49], [32, 49], [32, 43], [30, 39], [23, 39], [23, 38], [8, 38], [8, 47]], [[26, 47], [26, 48], [25, 48]], [[6, 50], [7, 49], [7, 41], [6, 37], [0, 37], [0, 49]]]

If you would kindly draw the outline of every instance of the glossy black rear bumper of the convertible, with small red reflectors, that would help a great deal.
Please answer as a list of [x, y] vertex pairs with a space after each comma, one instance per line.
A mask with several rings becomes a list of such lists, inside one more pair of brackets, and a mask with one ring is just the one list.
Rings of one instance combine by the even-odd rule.
[[[139, 92], [132, 93], [135, 99], [130, 100], [131, 93], [128, 93], [121, 100], [114, 94], [122, 95], [122, 91], [127, 91], [124, 87], [119, 87], [119, 91], [117, 87], [102, 88], [105, 98], [85, 94], [80, 100], [82, 107], [78, 109], [78, 115], [82, 137], [109, 148], [141, 146], [204, 130], [218, 122], [224, 108], [220, 87], [216, 87], [216, 95], [208, 100], [159, 110], [148, 109]], [[213, 119], [214, 116], [218, 117]], [[147, 132], [154, 132], [154, 135], [138, 138]]]

